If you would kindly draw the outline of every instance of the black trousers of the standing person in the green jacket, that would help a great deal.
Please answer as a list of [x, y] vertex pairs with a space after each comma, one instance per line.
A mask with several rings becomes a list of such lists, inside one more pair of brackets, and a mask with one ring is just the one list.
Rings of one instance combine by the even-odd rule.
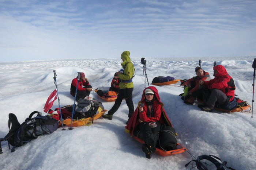
[[120, 105], [123, 101], [123, 98], [125, 98], [125, 102], [126, 102], [126, 104], [128, 106], [128, 109], [129, 109], [128, 117], [130, 119], [132, 117], [133, 112], [134, 112], [133, 101], [132, 101], [132, 91], [133, 91], [133, 88], [120, 89], [119, 93], [118, 93], [118, 96], [117, 96], [117, 99], [115, 101], [115, 104], [108, 111], [108, 114], [113, 115], [118, 110], [118, 108], [120, 107]]

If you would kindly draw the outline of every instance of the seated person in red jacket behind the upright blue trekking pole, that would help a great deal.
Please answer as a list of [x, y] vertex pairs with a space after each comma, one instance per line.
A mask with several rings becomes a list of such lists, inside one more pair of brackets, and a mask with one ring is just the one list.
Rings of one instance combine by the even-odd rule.
[[[77, 78], [74, 78], [72, 80], [71, 86], [70, 86], [70, 94], [75, 97], [76, 94], [76, 100], [79, 100], [79, 98], [84, 98], [86, 96], [89, 96], [91, 91], [93, 90], [88, 79], [84, 76], [84, 73], [81, 72], [80, 73], [80, 80], [79, 80], [79, 84], [78, 84], [78, 89], [77, 89], [77, 93], [76, 93], [76, 86], [77, 86]], [[84, 87], [83, 87], [84, 86]]]

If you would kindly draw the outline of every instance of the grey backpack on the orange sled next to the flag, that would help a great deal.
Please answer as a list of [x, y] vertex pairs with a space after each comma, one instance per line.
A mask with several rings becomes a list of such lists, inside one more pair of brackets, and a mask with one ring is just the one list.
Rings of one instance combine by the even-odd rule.
[[82, 119], [93, 117], [96, 115], [99, 107], [103, 107], [102, 103], [95, 100], [87, 100], [86, 98], [80, 98], [78, 104], [76, 105], [76, 113], [74, 119]]

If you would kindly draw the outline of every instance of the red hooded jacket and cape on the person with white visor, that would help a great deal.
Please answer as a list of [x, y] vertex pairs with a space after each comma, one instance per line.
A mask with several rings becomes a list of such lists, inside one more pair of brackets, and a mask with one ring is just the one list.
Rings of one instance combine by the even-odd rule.
[[[147, 104], [145, 103], [145, 90], [151, 89], [155, 93], [155, 101], [153, 102], [154, 117], [147, 117]], [[144, 103], [143, 112], [139, 112], [139, 104]], [[138, 116], [139, 114], [139, 116]], [[142, 98], [138, 103], [138, 107], [135, 109], [131, 119], [129, 120], [127, 126], [125, 127], [125, 132], [133, 135], [135, 127], [139, 124], [139, 118], [143, 121], [159, 121], [161, 124], [166, 124], [167, 126], [172, 126], [168, 116], [166, 115], [165, 109], [163, 109], [163, 103], [160, 101], [157, 88], [154, 86], [149, 86], [143, 90]]]

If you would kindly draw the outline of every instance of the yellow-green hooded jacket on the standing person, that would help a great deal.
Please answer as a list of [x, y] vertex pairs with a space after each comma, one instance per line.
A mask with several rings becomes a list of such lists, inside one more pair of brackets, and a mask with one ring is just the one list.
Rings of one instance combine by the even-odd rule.
[[[124, 62], [121, 63], [121, 66], [123, 67], [124, 72], [123, 72], [123, 74], [120, 73], [118, 75], [118, 78], [120, 78], [121, 80], [130, 80], [133, 76], [134, 66], [133, 66], [129, 56], [130, 56], [129, 51], [124, 51], [121, 54], [121, 58], [124, 59]], [[133, 88], [133, 82], [129, 82], [129, 83], [120, 82], [119, 88], [120, 89]]]

